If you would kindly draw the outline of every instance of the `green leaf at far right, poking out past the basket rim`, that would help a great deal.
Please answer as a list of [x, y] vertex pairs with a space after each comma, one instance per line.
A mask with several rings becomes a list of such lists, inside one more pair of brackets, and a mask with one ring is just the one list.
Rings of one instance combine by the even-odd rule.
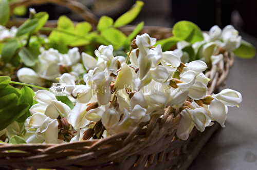
[[242, 40], [240, 47], [238, 47], [233, 52], [240, 58], [251, 59], [253, 56], [255, 56], [256, 49], [252, 44]]

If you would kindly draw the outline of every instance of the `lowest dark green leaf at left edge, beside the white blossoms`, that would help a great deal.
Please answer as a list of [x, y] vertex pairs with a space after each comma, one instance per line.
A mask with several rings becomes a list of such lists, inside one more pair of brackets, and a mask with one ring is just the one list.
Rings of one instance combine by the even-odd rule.
[[17, 118], [24, 115], [29, 109], [29, 104], [24, 103], [17, 106], [8, 106], [0, 109], [0, 130], [5, 129], [8, 125], [14, 122]]

